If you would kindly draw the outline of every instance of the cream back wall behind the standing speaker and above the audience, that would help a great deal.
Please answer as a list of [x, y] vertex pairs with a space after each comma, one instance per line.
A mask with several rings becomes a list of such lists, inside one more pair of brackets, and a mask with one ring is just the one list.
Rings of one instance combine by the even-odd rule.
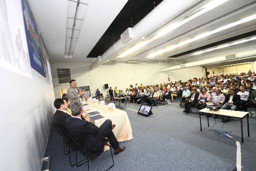
[[202, 77], [204, 68], [200, 66], [177, 69], [168, 72], [160, 72], [161, 68], [177, 63], [115, 63], [103, 64], [97, 68], [88, 71], [88, 66], [78, 63], [54, 63], [51, 65], [53, 86], [55, 97], [60, 97], [60, 88], [69, 87], [68, 83], [59, 84], [57, 80], [57, 68], [70, 68], [71, 79], [77, 81], [77, 86], [89, 85], [92, 95], [95, 94], [96, 88], [104, 95], [106, 89], [104, 84], [108, 86], [117, 86], [118, 89], [128, 88], [130, 84], [142, 83], [143, 85], [168, 82], [168, 75], [171, 81], [186, 81], [192, 77]]

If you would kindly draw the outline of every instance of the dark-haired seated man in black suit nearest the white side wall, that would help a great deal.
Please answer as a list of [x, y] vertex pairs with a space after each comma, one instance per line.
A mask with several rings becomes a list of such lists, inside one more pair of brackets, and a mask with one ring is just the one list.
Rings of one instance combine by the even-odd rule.
[[68, 111], [66, 111], [66, 101], [62, 98], [57, 98], [54, 100], [54, 106], [56, 107], [56, 112], [53, 116], [53, 124], [60, 127], [64, 126], [66, 118], [71, 117]]

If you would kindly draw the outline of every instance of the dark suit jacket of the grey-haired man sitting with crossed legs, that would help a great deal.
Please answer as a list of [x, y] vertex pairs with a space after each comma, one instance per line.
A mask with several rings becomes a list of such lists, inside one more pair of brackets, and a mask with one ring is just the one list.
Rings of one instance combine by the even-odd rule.
[[96, 125], [86, 120], [68, 117], [65, 127], [80, 143], [85, 144], [88, 137], [87, 147], [90, 156], [98, 155], [104, 148], [103, 137], [100, 136], [100, 130]]

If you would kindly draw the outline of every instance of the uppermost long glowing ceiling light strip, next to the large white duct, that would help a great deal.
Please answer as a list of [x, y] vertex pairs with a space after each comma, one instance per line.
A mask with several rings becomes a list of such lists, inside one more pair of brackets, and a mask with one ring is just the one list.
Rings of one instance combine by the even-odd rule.
[[[195, 17], [219, 6], [220, 4], [226, 2], [228, 0], [211, 0], [210, 2], [206, 3], [205, 5], [201, 6], [200, 8], [198, 8], [197, 10], [195, 10], [194, 12], [192, 12], [191, 14], [187, 15], [186, 17], [176, 21], [173, 24], [170, 24], [168, 26], [163, 25], [162, 29], [160, 29], [159, 31], [156, 32], [156, 34], [150, 36], [148, 39], [144, 39], [142, 42], [134, 45], [133, 47], [129, 48], [126, 51], [121, 52], [116, 58], [121, 58], [126, 56], [127, 54], [136, 51], [137, 49], [145, 46], [146, 44], [150, 43], [151, 41], [169, 33], [170, 31], [178, 28], [179, 26], [185, 24], [186, 22], [194, 19]], [[165, 27], [164, 27], [165, 26]], [[143, 38], [143, 37], [142, 37]]]

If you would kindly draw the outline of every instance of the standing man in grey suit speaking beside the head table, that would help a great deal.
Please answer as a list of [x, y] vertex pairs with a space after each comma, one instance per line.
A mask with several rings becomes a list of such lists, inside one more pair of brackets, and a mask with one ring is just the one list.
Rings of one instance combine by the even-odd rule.
[[69, 81], [69, 85], [70, 87], [67, 89], [67, 97], [70, 100], [70, 105], [72, 106], [74, 102], [80, 102], [80, 96], [82, 96], [84, 92], [76, 88], [76, 80], [74, 79]]

